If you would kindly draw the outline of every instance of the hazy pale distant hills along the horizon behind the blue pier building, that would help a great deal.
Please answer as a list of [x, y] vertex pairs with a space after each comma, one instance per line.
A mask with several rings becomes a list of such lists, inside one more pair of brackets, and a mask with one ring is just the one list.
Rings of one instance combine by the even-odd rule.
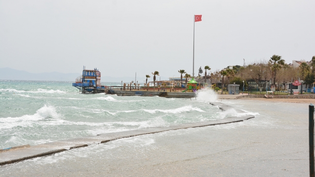
[[[15, 70], [12, 68], [0, 68], [0, 79], [1, 80], [42, 80], [42, 81], [75, 81], [75, 79], [81, 75], [80, 73], [40, 73], [34, 74], [26, 71]], [[148, 79], [152, 81], [153, 76]], [[138, 83], [143, 83], [145, 77], [137, 77]], [[131, 82], [134, 81], [135, 77], [111, 77], [102, 75], [101, 82]], [[157, 76], [159, 80], [159, 76]], [[169, 80], [167, 77], [161, 76], [161, 80]]]

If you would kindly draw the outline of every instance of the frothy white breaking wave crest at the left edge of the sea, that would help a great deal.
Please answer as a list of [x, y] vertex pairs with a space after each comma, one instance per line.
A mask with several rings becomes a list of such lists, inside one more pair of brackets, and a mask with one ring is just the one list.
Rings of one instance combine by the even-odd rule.
[[16, 118], [0, 118], [0, 130], [11, 129], [18, 126], [31, 127], [34, 122], [44, 118], [60, 118], [60, 115], [56, 112], [55, 107], [44, 105], [33, 115], [24, 115]]

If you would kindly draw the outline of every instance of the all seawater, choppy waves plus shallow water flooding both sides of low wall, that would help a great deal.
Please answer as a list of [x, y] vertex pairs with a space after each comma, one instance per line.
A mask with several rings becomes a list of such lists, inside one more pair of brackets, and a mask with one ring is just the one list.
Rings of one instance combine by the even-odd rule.
[[[120, 86], [121, 83], [103, 83]], [[237, 117], [72, 149], [0, 167], [0, 176], [298, 176], [308, 174], [307, 104], [79, 94], [71, 82], [0, 80], [0, 149]]]

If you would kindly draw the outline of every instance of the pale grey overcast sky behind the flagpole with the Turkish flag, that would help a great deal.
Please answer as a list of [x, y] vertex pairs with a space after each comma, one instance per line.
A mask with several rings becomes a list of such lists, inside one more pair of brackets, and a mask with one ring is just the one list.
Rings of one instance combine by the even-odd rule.
[[315, 0], [0, 0], [0, 68], [195, 75], [315, 56]]

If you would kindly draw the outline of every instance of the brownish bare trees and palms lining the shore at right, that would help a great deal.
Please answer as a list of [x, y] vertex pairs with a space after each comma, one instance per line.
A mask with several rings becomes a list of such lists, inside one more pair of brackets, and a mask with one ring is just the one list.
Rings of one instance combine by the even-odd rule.
[[301, 62], [298, 67], [287, 64], [279, 55], [273, 55], [269, 60], [260, 60], [249, 64], [246, 67], [233, 66], [233, 69], [215, 71], [212, 83], [219, 79], [224, 84], [236, 83], [247, 87], [248, 81], [254, 81], [258, 88], [264, 88], [266, 83], [271, 81], [272, 86], [280, 90], [292, 80], [303, 80], [303, 83], [310, 86], [315, 81], [315, 56], [310, 63]]

